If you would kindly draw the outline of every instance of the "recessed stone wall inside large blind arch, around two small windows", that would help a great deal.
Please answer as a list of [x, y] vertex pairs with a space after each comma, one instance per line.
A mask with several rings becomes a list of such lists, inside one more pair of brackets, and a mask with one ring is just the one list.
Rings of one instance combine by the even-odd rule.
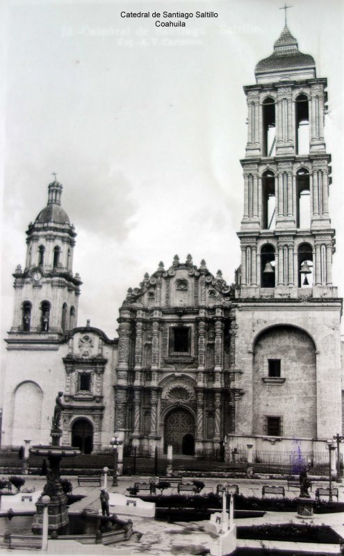
[[[268, 358], [281, 359], [284, 383], [264, 382]], [[260, 336], [253, 361], [253, 434], [268, 434], [266, 416], [281, 416], [282, 435], [316, 436], [316, 349], [300, 329], [278, 327]]]

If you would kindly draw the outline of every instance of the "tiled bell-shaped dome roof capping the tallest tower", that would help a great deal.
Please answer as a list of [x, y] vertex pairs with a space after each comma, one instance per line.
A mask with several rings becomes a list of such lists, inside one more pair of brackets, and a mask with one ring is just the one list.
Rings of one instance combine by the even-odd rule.
[[263, 74], [280, 70], [295, 70], [303, 68], [315, 69], [316, 63], [313, 56], [302, 54], [299, 51], [297, 40], [290, 33], [287, 26], [281, 32], [274, 44], [274, 51], [268, 58], [263, 58], [256, 65], [254, 73]]

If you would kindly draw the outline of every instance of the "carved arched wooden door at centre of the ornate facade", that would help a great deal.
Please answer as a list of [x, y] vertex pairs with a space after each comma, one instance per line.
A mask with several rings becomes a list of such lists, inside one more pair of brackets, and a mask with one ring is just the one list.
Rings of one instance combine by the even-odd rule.
[[174, 409], [165, 418], [165, 447], [177, 454], [195, 454], [195, 420], [187, 409]]

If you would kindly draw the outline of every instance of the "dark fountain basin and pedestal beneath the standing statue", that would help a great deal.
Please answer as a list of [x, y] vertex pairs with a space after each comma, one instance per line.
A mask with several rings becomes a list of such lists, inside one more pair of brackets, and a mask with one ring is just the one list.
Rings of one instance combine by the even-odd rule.
[[[67, 496], [63, 492], [60, 482], [60, 461], [63, 457], [74, 457], [80, 454], [79, 448], [72, 446], [60, 446], [62, 430], [51, 430], [51, 445], [36, 445], [30, 448], [31, 454], [46, 457], [49, 461], [47, 471], [47, 482], [44, 485], [43, 495], [50, 497], [48, 504], [49, 526], [48, 532], [66, 534], [68, 525]], [[33, 516], [32, 531], [34, 534], [42, 534], [44, 504], [42, 496], [36, 502], [36, 513]]]

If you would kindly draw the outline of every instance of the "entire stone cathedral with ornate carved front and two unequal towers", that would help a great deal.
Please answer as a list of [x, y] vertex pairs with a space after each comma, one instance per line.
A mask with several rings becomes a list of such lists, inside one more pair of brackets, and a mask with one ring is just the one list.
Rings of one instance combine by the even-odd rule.
[[229, 286], [174, 256], [120, 307], [118, 337], [77, 326], [81, 279], [62, 186], [28, 227], [6, 339], [3, 444], [49, 441], [64, 392], [63, 443], [186, 455], [247, 445], [320, 449], [342, 431], [340, 322], [332, 284], [331, 156], [324, 78], [286, 26], [245, 86], [241, 263]]

